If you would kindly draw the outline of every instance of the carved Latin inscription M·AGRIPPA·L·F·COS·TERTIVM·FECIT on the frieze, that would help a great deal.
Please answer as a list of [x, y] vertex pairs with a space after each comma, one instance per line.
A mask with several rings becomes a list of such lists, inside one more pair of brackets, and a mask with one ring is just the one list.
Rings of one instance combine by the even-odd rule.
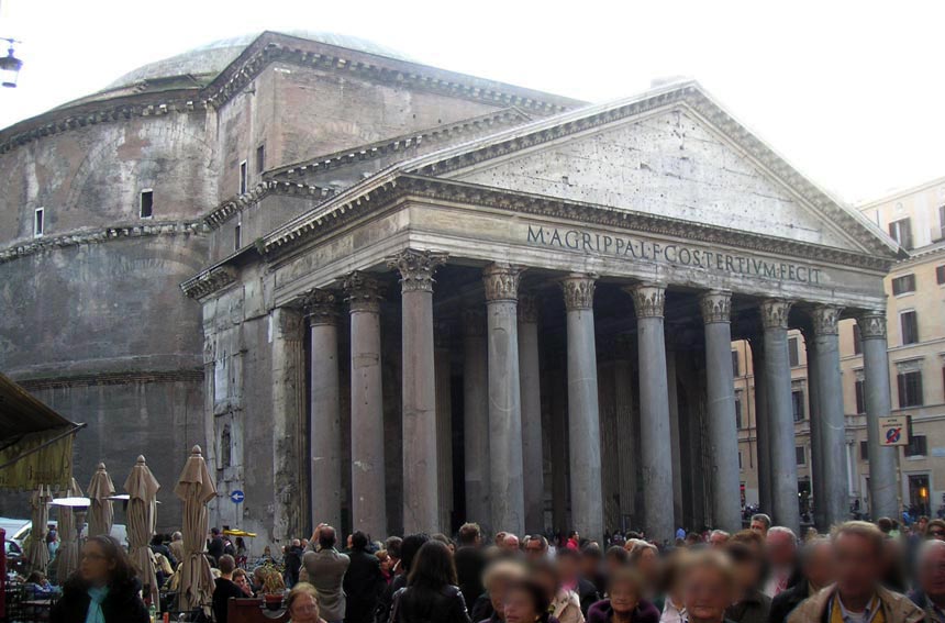
[[626, 259], [642, 259], [779, 281], [820, 283], [822, 270], [804, 264], [772, 262], [751, 255], [707, 249], [685, 244], [658, 243], [633, 236], [602, 234], [578, 229], [529, 225], [529, 244], [598, 254]]

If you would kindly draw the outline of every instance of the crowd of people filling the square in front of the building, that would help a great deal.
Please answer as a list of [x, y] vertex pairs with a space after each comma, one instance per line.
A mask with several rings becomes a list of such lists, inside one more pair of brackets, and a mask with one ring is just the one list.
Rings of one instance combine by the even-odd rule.
[[[292, 623], [945, 623], [942, 520], [850, 521], [799, 538], [756, 514], [734, 534], [678, 536], [487, 538], [467, 523], [455, 539], [355, 532], [342, 544], [322, 524], [251, 570], [245, 546], [214, 530], [213, 620], [227, 623], [230, 598], [275, 593]], [[178, 541], [153, 549], [177, 558]], [[89, 538], [52, 621], [144, 623], [140, 589], [118, 542]]]

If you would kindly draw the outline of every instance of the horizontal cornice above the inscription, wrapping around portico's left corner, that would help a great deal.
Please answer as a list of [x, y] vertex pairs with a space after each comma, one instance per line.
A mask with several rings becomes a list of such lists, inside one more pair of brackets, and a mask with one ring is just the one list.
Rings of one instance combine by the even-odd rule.
[[273, 260], [353, 219], [362, 218], [373, 210], [383, 209], [405, 197], [485, 205], [509, 212], [560, 218], [581, 224], [782, 254], [875, 271], [885, 272], [892, 264], [891, 257], [837, 249], [645, 212], [615, 210], [607, 205], [418, 175], [388, 176], [378, 180], [378, 183], [368, 191], [338, 196], [321, 208], [264, 236], [259, 251], [268, 260]]

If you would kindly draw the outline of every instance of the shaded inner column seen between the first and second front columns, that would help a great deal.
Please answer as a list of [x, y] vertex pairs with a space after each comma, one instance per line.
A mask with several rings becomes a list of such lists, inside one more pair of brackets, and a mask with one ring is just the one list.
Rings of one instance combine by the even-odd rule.
[[464, 314], [463, 443], [466, 455], [466, 521], [490, 532], [489, 367], [486, 319], [479, 310]]

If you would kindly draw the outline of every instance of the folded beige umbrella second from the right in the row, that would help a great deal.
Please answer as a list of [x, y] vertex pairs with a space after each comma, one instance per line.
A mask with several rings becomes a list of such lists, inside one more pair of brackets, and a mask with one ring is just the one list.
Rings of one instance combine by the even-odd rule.
[[152, 603], [159, 603], [157, 576], [154, 572], [154, 553], [149, 544], [154, 536], [155, 514], [157, 509], [157, 490], [160, 489], [157, 479], [151, 472], [143, 456], [137, 457], [124, 490], [127, 491], [127, 545], [131, 560], [137, 569], [145, 596], [151, 593]]

